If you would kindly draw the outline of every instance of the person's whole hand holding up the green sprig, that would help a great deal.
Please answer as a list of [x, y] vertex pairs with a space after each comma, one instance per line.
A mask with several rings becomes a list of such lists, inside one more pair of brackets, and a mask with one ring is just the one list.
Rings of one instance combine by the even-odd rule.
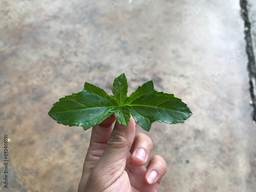
[[[152, 152], [152, 140], [144, 134], [135, 136], [136, 123], [132, 117], [127, 127], [115, 122], [112, 131], [114, 122], [112, 115], [93, 126], [78, 192], [158, 191], [166, 163], [155, 155], [145, 166]], [[140, 153], [136, 156], [136, 152]], [[156, 179], [148, 179], [151, 171]]]

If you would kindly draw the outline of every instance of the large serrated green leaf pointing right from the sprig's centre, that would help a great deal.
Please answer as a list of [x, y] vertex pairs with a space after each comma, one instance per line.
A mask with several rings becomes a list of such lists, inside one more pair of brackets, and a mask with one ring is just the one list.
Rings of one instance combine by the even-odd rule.
[[174, 94], [155, 91], [153, 81], [138, 87], [125, 104], [130, 106], [135, 122], [146, 131], [150, 131], [155, 121], [182, 123], [192, 115], [187, 105]]

